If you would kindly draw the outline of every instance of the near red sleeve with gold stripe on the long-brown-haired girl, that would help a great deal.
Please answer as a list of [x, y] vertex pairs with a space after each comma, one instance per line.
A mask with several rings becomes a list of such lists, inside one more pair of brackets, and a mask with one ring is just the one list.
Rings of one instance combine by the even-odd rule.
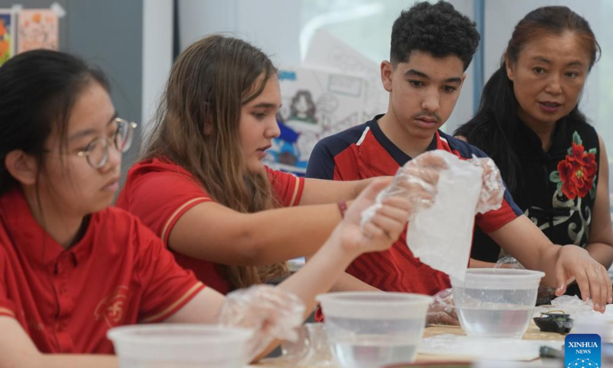
[[187, 210], [202, 202], [210, 202], [204, 188], [183, 172], [150, 172], [135, 180], [126, 188], [130, 198], [129, 212], [133, 213], [168, 244], [168, 238], [177, 220]]

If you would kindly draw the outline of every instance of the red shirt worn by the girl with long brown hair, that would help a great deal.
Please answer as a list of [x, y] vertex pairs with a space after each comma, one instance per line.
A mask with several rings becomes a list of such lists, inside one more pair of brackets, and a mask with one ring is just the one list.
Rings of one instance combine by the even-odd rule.
[[[298, 205], [304, 178], [265, 167], [273, 194], [284, 207]], [[202, 184], [189, 171], [165, 157], [145, 159], [128, 172], [126, 185], [115, 205], [137, 215], [168, 245], [173, 226], [187, 210], [213, 201]], [[191, 258], [173, 251], [177, 263], [191, 269], [196, 277], [219, 293], [227, 294], [232, 285], [221, 265]]]

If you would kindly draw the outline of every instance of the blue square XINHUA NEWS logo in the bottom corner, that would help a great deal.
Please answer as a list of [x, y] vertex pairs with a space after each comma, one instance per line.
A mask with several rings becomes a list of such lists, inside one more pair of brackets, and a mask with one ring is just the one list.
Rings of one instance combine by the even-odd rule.
[[569, 334], [564, 339], [566, 368], [600, 368], [600, 335]]

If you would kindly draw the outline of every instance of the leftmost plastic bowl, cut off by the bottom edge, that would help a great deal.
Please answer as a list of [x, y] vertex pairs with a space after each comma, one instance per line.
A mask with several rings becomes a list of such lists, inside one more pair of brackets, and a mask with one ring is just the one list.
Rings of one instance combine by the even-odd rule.
[[198, 324], [142, 324], [112, 328], [120, 368], [243, 368], [253, 331]]

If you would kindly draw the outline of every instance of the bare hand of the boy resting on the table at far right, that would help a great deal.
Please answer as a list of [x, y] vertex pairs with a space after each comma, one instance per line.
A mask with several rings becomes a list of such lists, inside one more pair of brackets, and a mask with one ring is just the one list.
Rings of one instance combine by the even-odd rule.
[[584, 248], [565, 245], [558, 250], [555, 265], [555, 279], [558, 288], [555, 295], [566, 291], [566, 285], [576, 281], [583, 300], [592, 299], [594, 310], [604, 313], [606, 304], [613, 302], [611, 280], [606, 268], [596, 262]]

